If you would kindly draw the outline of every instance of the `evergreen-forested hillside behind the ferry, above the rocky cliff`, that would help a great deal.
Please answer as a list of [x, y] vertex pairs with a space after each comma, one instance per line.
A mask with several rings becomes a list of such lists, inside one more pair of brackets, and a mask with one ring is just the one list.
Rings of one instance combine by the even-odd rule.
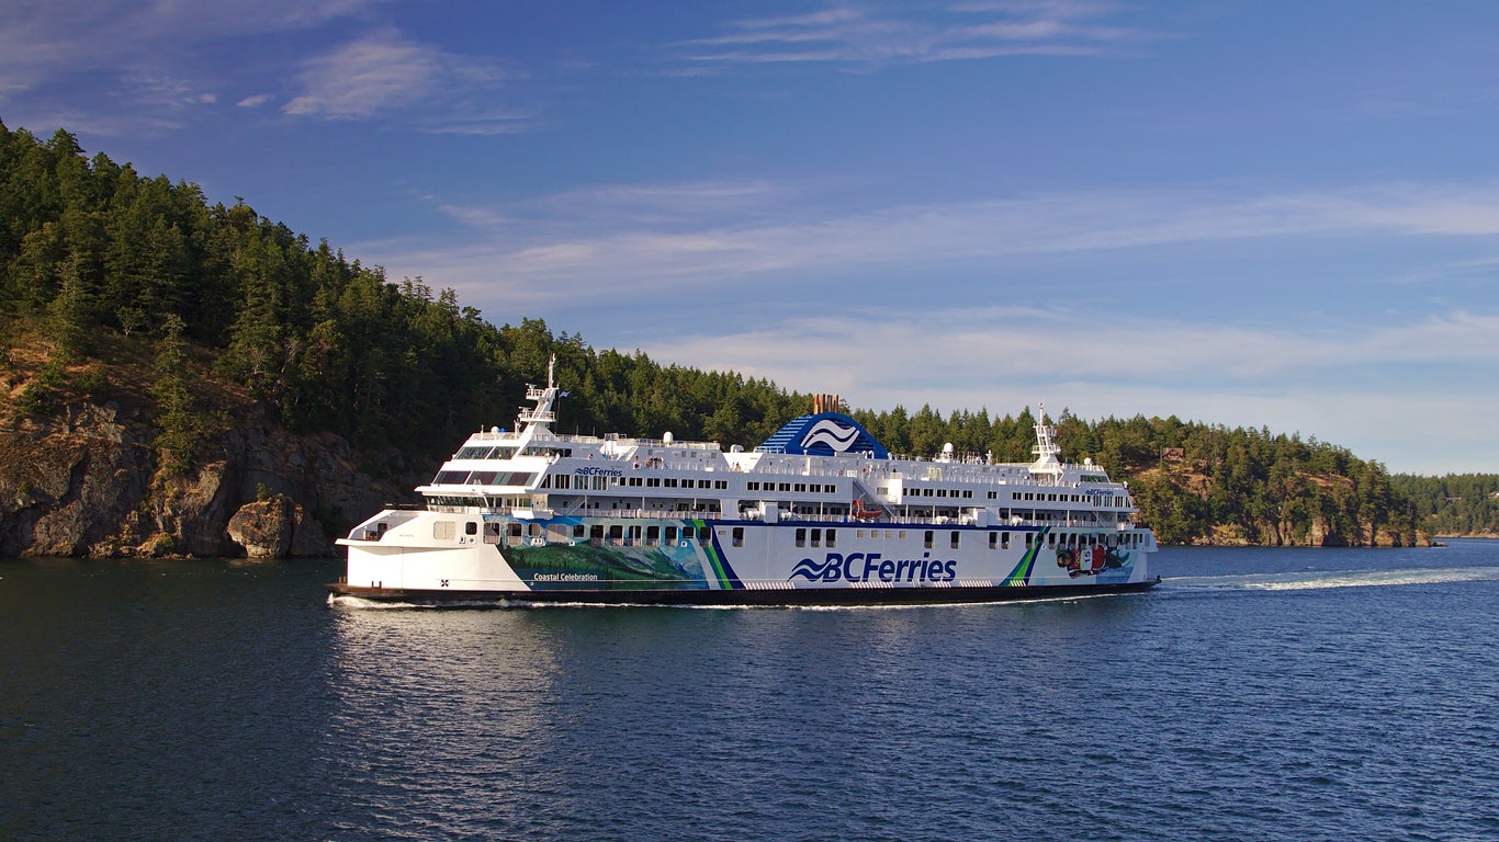
[[[87, 157], [67, 132], [43, 142], [4, 126], [0, 348], [9, 349], [0, 400], [33, 417], [82, 400], [138, 405], [166, 473], [192, 472], [204, 442], [246, 406], [294, 433], [432, 464], [466, 431], [510, 422], [553, 354], [571, 391], [562, 431], [672, 430], [752, 446], [811, 406], [767, 381], [598, 351], [541, 321], [496, 327], [450, 289], [390, 282], [243, 201], [208, 204], [195, 184]], [[853, 415], [896, 452], [952, 442], [1030, 458], [1028, 409]], [[1057, 421], [1063, 455], [1129, 479], [1166, 542], [1417, 538], [1420, 518], [1399, 493], [1414, 484], [1397, 488], [1378, 461], [1336, 445], [1174, 417]]]

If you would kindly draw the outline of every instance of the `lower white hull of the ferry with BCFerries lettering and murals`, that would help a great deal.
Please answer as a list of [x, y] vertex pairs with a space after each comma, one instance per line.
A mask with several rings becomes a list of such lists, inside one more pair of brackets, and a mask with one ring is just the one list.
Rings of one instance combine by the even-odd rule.
[[1144, 590], [1148, 530], [421, 512], [330, 592], [387, 602], [848, 605]]

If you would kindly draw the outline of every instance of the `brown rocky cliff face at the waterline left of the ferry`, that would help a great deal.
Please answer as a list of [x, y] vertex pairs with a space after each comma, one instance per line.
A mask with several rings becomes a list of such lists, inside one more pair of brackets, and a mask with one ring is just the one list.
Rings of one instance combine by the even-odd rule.
[[165, 476], [156, 430], [112, 403], [0, 417], [0, 556], [328, 556], [420, 481], [372, 476], [337, 436], [240, 421], [190, 475]]

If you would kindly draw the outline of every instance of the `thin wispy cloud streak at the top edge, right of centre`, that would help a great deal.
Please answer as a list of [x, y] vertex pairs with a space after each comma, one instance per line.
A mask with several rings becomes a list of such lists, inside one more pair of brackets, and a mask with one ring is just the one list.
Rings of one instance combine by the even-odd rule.
[[1141, 43], [1162, 33], [1106, 25], [1112, 3], [959, 3], [899, 10], [842, 4], [794, 16], [741, 19], [721, 34], [681, 43], [696, 63], [956, 61], [998, 55], [1085, 55]]

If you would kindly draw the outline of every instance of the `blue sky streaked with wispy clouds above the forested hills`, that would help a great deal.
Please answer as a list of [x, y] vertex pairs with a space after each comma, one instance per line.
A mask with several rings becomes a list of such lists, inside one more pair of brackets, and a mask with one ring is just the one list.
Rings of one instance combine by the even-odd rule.
[[0, 120], [597, 349], [1499, 472], [1496, 43], [1487, 0], [7, 0]]

